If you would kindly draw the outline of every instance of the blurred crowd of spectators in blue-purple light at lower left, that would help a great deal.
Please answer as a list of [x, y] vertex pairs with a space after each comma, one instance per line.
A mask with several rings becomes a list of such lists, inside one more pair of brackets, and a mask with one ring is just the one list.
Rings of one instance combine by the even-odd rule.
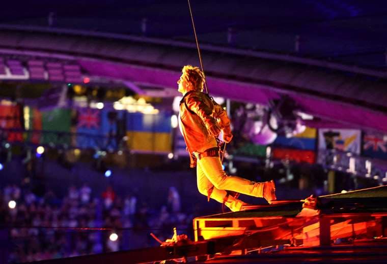
[[11, 241], [10, 263], [157, 246], [151, 232], [164, 241], [173, 227], [187, 231], [192, 223], [192, 215], [180, 210], [175, 187], [170, 187], [161, 208], [133, 194], [120, 197], [112, 186], [93, 193], [87, 184], [70, 186], [64, 197], [52, 190], [38, 196], [8, 185], [0, 199], [0, 221]]

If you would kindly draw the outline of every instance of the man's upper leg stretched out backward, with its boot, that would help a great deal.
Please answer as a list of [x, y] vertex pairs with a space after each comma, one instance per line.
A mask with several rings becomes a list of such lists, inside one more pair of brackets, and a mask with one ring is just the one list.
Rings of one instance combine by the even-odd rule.
[[237, 176], [228, 176], [222, 168], [219, 157], [203, 157], [198, 160], [198, 167], [203, 170], [208, 180], [219, 190], [232, 190], [243, 194], [275, 200], [273, 182], [254, 182]]

